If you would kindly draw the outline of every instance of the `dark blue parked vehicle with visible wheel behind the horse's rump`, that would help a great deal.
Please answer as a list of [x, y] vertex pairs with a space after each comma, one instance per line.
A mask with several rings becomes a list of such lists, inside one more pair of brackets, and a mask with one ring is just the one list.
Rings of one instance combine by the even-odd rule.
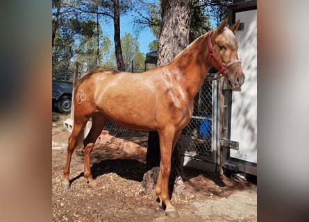
[[72, 92], [73, 83], [53, 80], [53, 105], [59, 112], [71, 112]]

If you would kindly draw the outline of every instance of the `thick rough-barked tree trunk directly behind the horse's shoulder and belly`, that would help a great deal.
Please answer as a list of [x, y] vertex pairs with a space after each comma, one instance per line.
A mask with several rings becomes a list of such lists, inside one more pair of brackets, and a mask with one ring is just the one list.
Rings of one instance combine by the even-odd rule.
[[[190, 21], [192, 18], [192, 1], [162, 0], [162, 24], [158, 41], [158, 62], [157, 65], [165, 65], [178, 55], [189, 44]], [[183, 166], [181, 165], [181, 146], [177, 143], [172, 154], [172, 171], [169, 177], [169, 190], [174, 188], [181, 193], [183, 183], [178, 178], [183, 177]], [[147, 149], [147, 169], [158, 171], [160, 166], [160, 144], [157, 132], [149, 132]], [[158, 175], [158, 173], [152, 173]], [[145, 177], [146, 178], [146, 177]], [[174, 187], [175, 180], [178, 185]], [[153, 179], [156, 181], [156, 178]], [[147, 184], [147, 182], [143, 182]], [[154, 187], [154, 185], [146, 185]], [[179, 189], [177, 189], [177, 187]]]

